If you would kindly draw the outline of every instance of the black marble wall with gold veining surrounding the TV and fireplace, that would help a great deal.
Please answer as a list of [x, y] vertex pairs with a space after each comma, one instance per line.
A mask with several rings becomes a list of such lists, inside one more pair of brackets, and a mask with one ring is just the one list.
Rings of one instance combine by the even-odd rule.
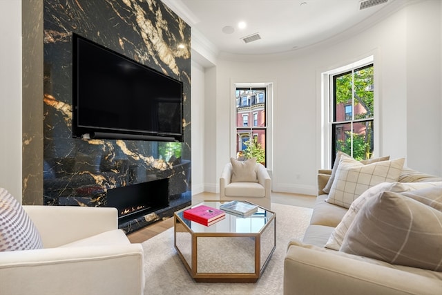
[[[73, 138], [73, 32], [182, 81], [184, 142]], [[45, 0], [44, 204], [106, 206], [109, 189], [160, 178], [189, 204], [190, 94], [191, 28], [160, 0]]]

